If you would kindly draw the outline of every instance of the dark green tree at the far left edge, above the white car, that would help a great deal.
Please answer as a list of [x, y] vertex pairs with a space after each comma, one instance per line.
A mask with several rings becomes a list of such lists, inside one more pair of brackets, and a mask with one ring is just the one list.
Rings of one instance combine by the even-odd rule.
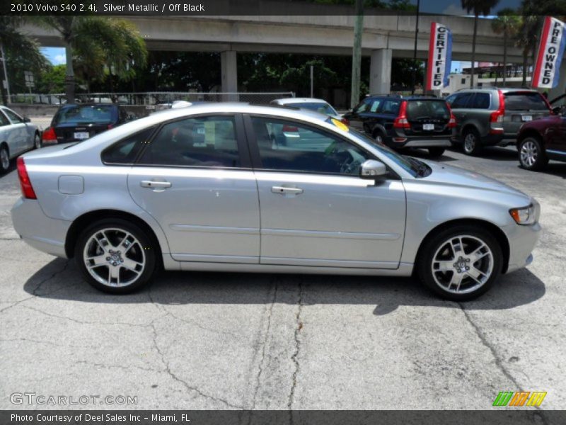
[[[28, 62], [35, 64], [37, 68], [45, 64], [45, 57], [40, 52], [40, 47], [35, 39], [21, 33], [20, 27], [24, 23], [22, 16], [0, 16], [0, 50], [4, 53], [6, 60], [8, 53], [25, 52]], [[7, 66], [7, 64], [3, 64]], [[4, 79], [4, 70], [0, 69], [0, 81]], [[6, 81], [6, 84], [8, 82]], [[6, 89], [0, 84], [0, 91], [4, 105], [7, 104]]]

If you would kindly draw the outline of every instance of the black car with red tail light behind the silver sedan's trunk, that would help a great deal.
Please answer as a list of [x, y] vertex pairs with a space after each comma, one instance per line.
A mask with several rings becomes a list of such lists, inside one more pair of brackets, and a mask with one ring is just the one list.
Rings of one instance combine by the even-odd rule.
[[45, 145], [81, 142], [130, 120], [124, 107], [115, 103], [79, 103], [57, 110], [50, 127], [43, 130]]

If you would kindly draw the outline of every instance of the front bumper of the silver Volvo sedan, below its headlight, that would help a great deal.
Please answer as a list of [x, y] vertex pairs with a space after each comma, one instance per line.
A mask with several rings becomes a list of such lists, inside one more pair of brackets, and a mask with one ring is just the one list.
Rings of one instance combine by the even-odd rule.
[[509, 239], [509, 266], [507, 273], [529, 266], [533, 261], [533, 249], [541, 235], [541, 225], [509, 225], [503, 229]]

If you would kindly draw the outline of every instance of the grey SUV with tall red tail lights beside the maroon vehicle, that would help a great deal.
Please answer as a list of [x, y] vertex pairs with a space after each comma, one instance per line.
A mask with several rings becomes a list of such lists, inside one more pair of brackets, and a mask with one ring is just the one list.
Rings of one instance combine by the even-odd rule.
[[522, 124], [550, 115], [548, 102], [536, 90], [462, 89], [446, 101], [456, 115], [457, 141], [468, 155], [479, 154], [485, 146], [514, 145]]

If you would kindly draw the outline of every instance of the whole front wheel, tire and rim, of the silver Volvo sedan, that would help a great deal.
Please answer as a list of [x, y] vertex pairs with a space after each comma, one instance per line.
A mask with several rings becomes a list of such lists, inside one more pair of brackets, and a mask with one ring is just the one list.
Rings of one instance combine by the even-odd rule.
[[501, 246], [490, 232], [473, 225], [455, 225], [424, 241], [417, 275], [439, 297], [468, 301], [492, 287], [502, 263]]

